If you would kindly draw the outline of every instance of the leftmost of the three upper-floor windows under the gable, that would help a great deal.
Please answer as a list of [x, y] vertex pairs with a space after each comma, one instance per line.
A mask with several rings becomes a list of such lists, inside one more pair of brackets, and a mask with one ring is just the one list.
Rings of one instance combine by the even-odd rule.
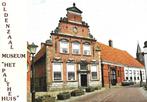
[[69, 42], [67, 40], [60, 41], [60, 52], [68, 53], [69, 52]]

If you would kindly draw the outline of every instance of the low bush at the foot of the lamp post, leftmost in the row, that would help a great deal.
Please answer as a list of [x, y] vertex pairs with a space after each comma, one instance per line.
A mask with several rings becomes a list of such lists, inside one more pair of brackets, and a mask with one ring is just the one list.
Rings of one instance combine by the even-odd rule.
[[55, 102], [55, 97], [51, 97], [49, 95], [39, 96], [35, 99], [35, 102]]

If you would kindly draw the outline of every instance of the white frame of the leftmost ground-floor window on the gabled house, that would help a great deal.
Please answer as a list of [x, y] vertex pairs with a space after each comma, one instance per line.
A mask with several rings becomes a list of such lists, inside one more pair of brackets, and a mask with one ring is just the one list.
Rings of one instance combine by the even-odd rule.
[[[56, 68], [56, 66], [54, 66], [55, 64], [60, 64], [60, 69], [55, 69]], [[52, 68], [53, 68], [53, 81], [62, 81], [63, 80], [63, 75], [62, 75], [62, 73], [63, 73], [63, 64], [61, 63], [61, 62], [53, 62], [52, 63]], [[60, 72], [61, 73], [61, 80], [56, 80], [55, 78], [54, 78], [54, 72]]]

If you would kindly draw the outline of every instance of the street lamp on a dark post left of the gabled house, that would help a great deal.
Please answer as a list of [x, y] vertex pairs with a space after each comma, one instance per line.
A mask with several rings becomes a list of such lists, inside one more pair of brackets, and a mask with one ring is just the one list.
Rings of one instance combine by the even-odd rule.
[[28, 48], [30, 50], [30, 53], [32, 55], [32, 88], [31, 88], [31, 93], [32, 93], [32, 102], [35, 102], [35, 67], [34, 67], [34, 55], [36, 53], [36, 49], [37, 49], [37, 45], [35, 45], [34, 43], [28, 45]]

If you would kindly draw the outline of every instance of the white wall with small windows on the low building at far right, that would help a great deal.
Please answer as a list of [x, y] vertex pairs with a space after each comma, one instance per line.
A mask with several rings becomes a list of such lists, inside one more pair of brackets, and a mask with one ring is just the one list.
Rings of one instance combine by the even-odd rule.
[[[128, 80], [131, 80], [131, 77], [132, 77], [133, 82], [140, 82], [140, 70], [142, 71], [143, 82], [145, 82], [146, 77], [145, 77], [144, 68], [124, 67], [124, 79], [127, 80], [127, 77], [128, 77]], [[134, 73], [134, 71], [136, 72], [136, 74]], [[134, 77], [136, 77], [136, 80], [134, 80]], [[138, 80], [138, 77], [139, 77], [139, 80]]]

